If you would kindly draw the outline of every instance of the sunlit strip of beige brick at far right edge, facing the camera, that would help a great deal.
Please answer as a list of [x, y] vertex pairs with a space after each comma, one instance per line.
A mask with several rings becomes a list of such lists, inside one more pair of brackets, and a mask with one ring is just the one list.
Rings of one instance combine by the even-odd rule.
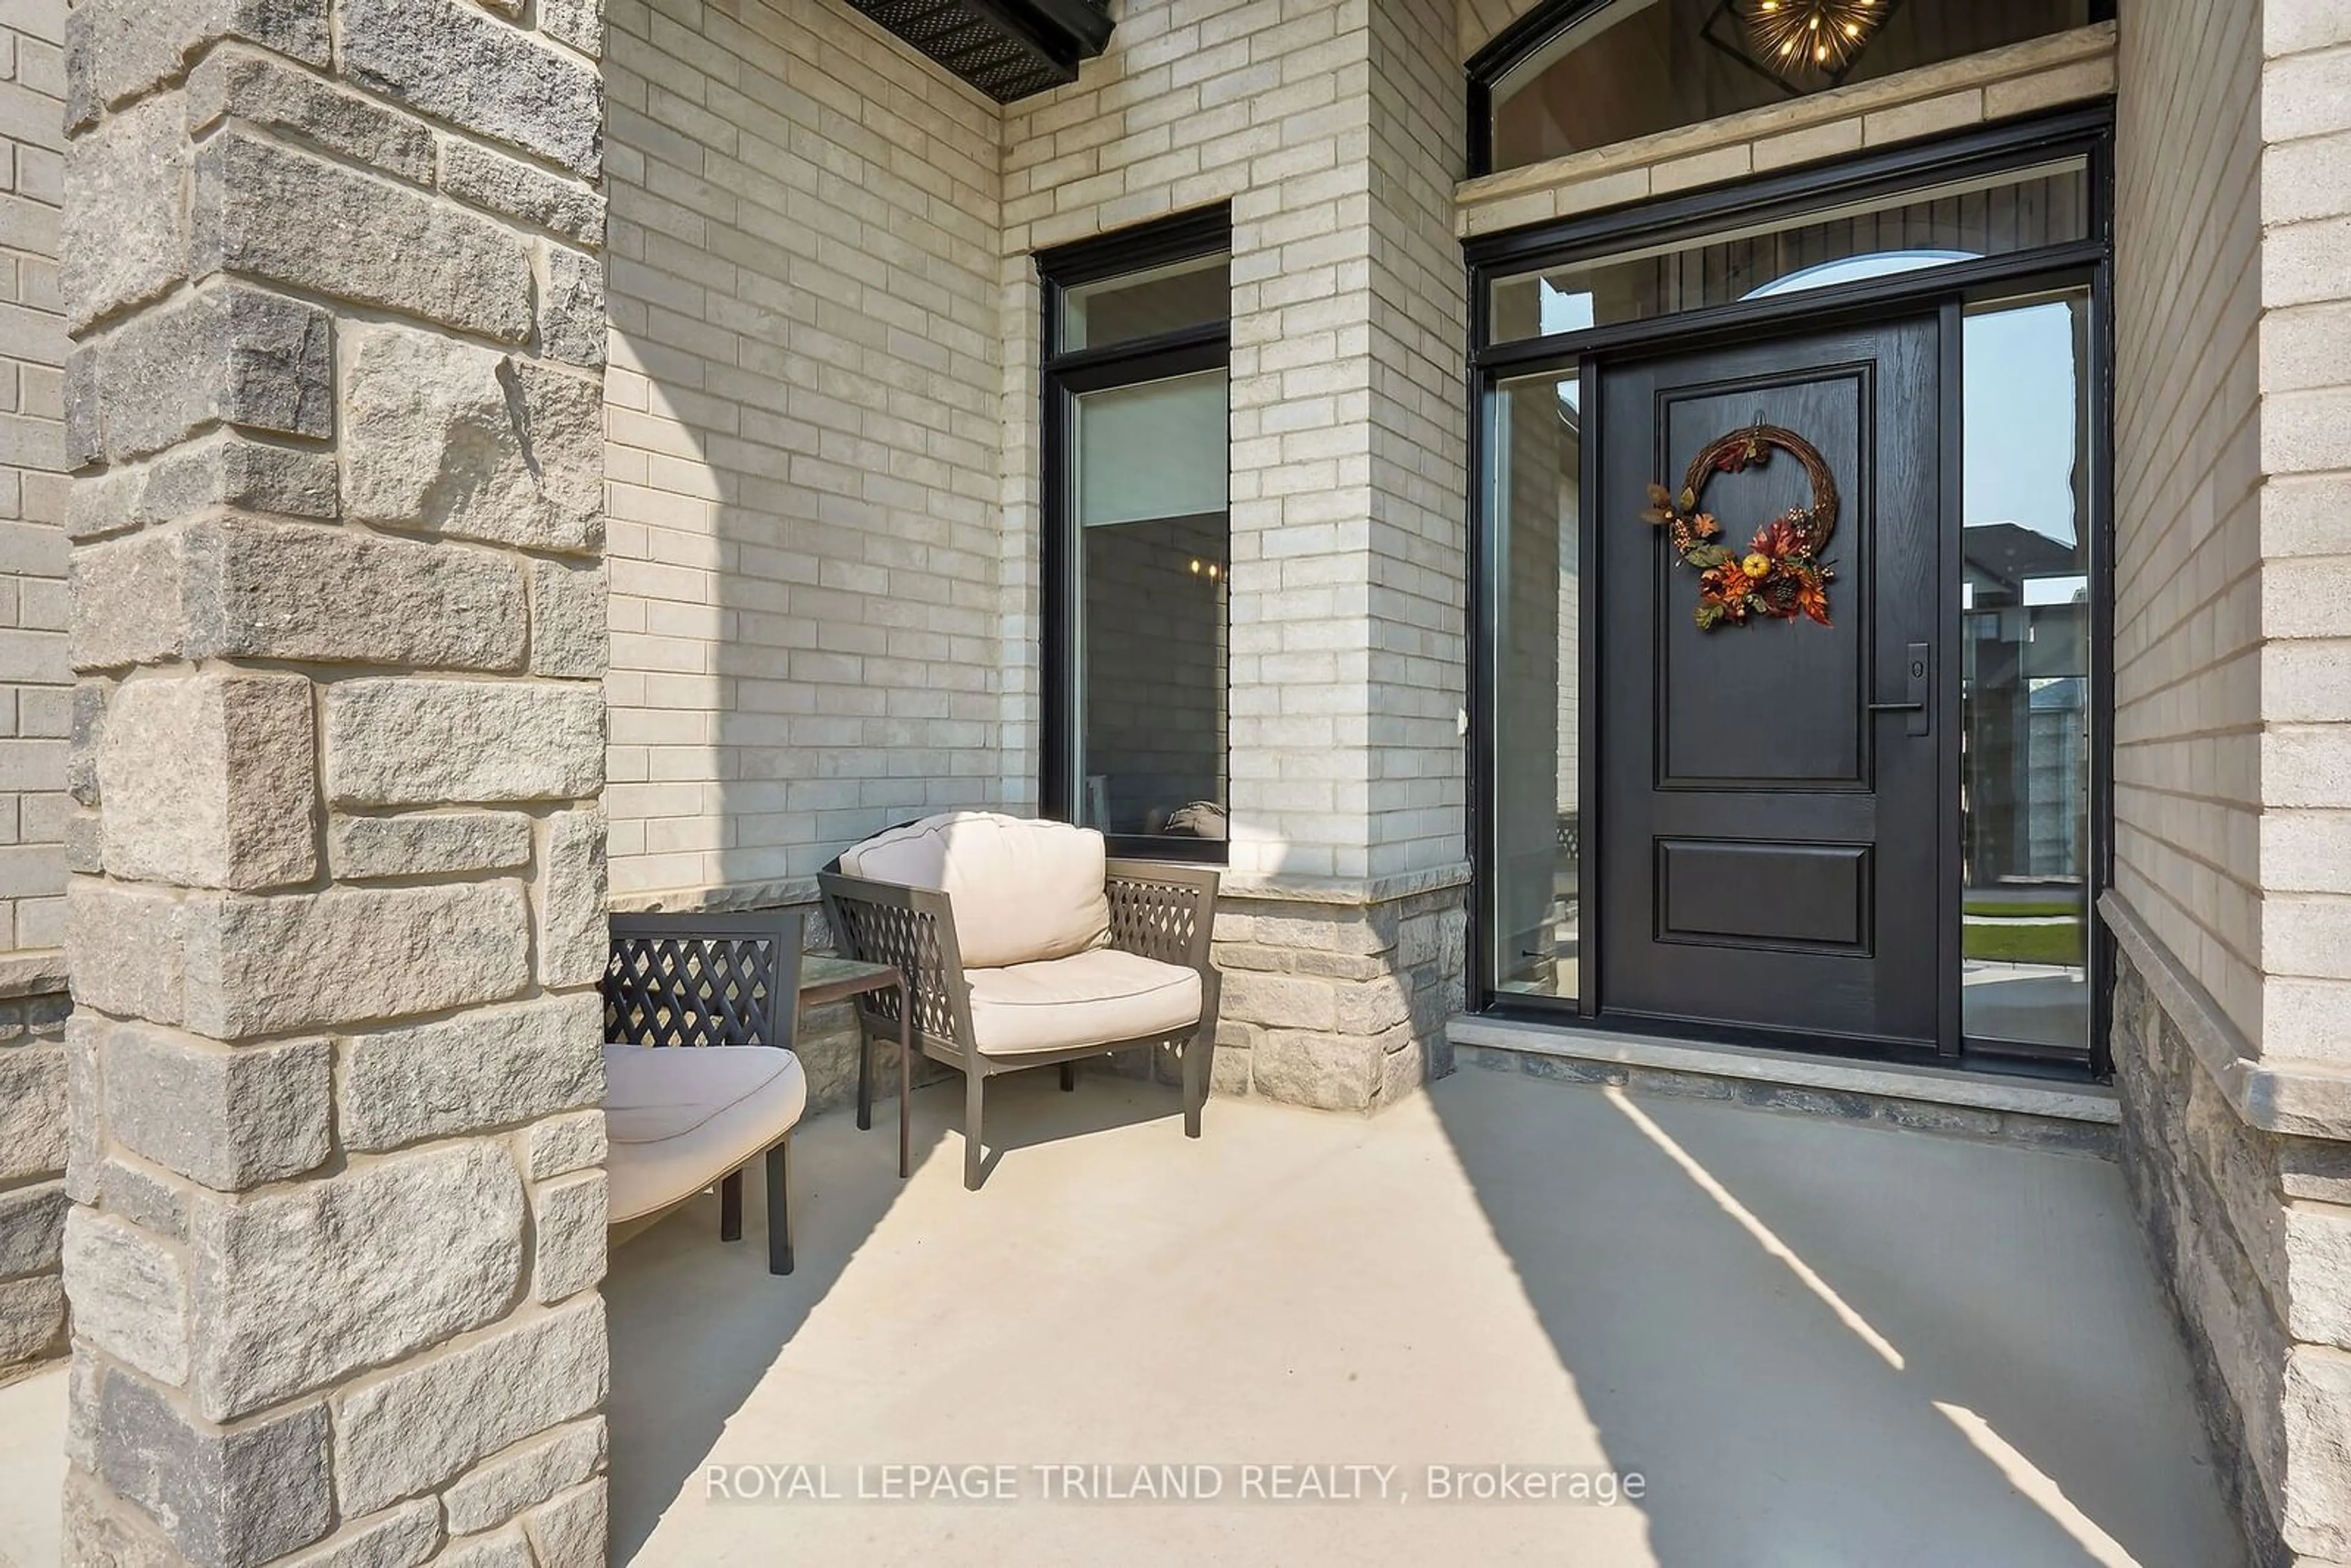
[[[2250, 47], [2241, 49], [2250, 54]], [[2231, 665], [2229, 698], [2259, 689], [2259, 1048], [2351, 1067], [2351, 9], [2269, 0], [2259, 42], [2259, 470], [2255, 595], [2259, 677]], [[2243, 68], [2231, 71], [2243, 80]], [[2250, 294], [2250, 280], [2243, 289]], [[2238, 369], [2231, 395], [2250, 376]], [[2250, 442], [2250, 435], [2241, 435]], [[2229, 491], [2243, 480], [2231, 449]], [[2243, 545], [2241, 545], [2243, 548]], [[2231, 564], [2238, 557], [2231, 555]], [[2226, 757], [2243, 769], [2248, 738]], [[2231, 771], [2224, 783], [2241, 785]], [[2229, 842], [2238, 867], [2243, 825]], [[2236, 891], [2226, 889], [2226, 898]], [[2222, 905], [2224, 910], [2229, 903]]]

